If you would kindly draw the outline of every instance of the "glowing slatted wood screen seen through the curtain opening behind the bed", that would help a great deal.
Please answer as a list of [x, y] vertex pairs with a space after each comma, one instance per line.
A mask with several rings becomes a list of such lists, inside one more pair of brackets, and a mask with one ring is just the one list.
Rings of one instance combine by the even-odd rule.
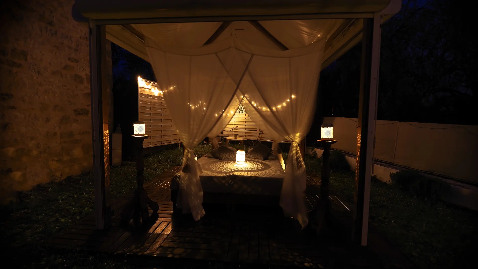
[[[234, 126], [237, 127], [230, 131]], [[258, 126], [256, 123], [254, 123], [247, 113], [236, 113], [234, 114], [228, 125], [226, 125], [226, 128], [224, 128], [223, 134], [228, 134], [230, 136], [232, 136], [233, 134], [238, 134], [238, 137], [255, 140], [260, 131], [263, 132], [261, 136], [261, 141], [272, 141], [272, 138], [269, 137], [263, 129], [261, 129], [261, 126]], [[291, 141], [286, 140], [282, 142], [291, 143]]]

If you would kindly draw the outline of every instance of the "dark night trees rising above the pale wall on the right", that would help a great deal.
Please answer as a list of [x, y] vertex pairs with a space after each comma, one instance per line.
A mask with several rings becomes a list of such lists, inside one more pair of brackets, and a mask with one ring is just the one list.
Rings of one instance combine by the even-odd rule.
[[[459, 1], [408, 0], [382, 26], [378, 119], [477, 124], [473, 15]], [[325, 116], [357, 117], [361, 44], [320, 76]]]

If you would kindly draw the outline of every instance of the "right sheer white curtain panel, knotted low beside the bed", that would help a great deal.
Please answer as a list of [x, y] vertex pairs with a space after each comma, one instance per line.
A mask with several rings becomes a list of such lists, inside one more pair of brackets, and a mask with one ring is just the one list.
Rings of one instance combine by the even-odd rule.
[[[301, 49], [267, 52], [240, 44], [242, 52], [254, 55], [239, 85], [246, 98], [246, 111], [254, 122], [261, 122], [275, 145], [286, 139], [291, 144], [280, 205], [285, 216], [293, 217], [304, 228], [308, 224], [304, 205], [306, 185], [304, 159], [299, 142], [308, 133], [314, 113], [324, 43]], [[240, 54], [242, 62], [248, 54]], [[238, 74], [230, 73], [234, 81]]]

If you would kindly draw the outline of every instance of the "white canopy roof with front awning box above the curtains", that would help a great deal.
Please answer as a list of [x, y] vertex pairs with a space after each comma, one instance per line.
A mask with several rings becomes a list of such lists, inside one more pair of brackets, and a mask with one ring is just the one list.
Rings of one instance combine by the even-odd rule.
[[[174, 4], [170, 1], [154, 1], [156, 8], [153, 9], [152, 3], [147, 0], [134, 1], [135, 4], [132, 6], [128, 6], [125, 1], [118, 2], [114, 6], [108, 6], [104, 0], [77, 0], [76, 7], [80, 11], [83, 10], [83, 14], [88, 18], [116, 19], [112, 22], [118, 24], [106, 26], [107, 39], [147, 61], [150, 61], [150, 59], [144, 44], [146, 38], [167, 40], [180, 47], [192, 48], [205, 45], [211, 39], [212, 42], [218, 42], [229, 36], [234, 36], [244, 42], [253, 41], [257, 45], [272, 50], [292, 49], [319, 40], [326, 41], [322, 68], [335, 61], [361, 40], [363, 22], [360, 18], [368, 18], [374, 12], [380, 12], [383, 15], [382, 22], [384, 22], [392, 14], [398, 12], [401, 6], [400, 0], [178, 0], [174, 1]], [[152, 18], [153, 16], [168, 16], [167, 19], [164, 19], [164, 22], [171, 20], [191, 21], [193, 20], [190, 18], [192, 15], [206, 12], [201, 10], [200, 7], [203, 5], [198, 4], [198, 2], [202, 3], [204, 7], [207, 7], [208, 4], [215, 7], [214, 9], [208, 9], [209, 13], [207, 14], [210, 16], [204, 19], [205, 22], [119, 24], [121, 22], [135, 22], [130, 18]], [[282, 8], [288, 5], [291, 8], [285, 14], [288, 16], [302, 14], [300, 16], [305, 19], [268, 19], [282, 18], [282, 15], [279, 16], [278, 14], [284, 14], [285, 11]], [[107, 6], [108, 8], [106, 8]], [[173, 6], [181, 11], [176, 11]], [[231, 7], [236, 7], [236, 9], [228, 10]], [[264, 7], [267, 7], [267, 9]], [[187, 11], [194, 8], [196, 8], [196, 12]], [[244, 17], [244, 14], [254, 14], [254, 11], [259, 12], [257, 11], [258, 8], [262, 8], [261, 14], [264, 14], [264, 12], [270, 14], [256, 16], [266, 20], [258, 22], [248, 20], [251, 16]], [[237, 17], [215, 16], [231, 12], [236, 14]], [[330, 14], [330, 12], [335, 14]], [[174, 15], [177, 15], [177, 17], [170, 18]], [[295, 15], [295, 17], [297, 16], [299, 15]], [[311, 17], [320, 17], [321, 19], [310, 19]], [[118, 20], [123, 18], [129, 20]], [[197, 17], [194, 18], [197, 21]], [[232, 23], [230, 23], [231, 21]], [[218, 35], [216, 36], [216, 34]]]

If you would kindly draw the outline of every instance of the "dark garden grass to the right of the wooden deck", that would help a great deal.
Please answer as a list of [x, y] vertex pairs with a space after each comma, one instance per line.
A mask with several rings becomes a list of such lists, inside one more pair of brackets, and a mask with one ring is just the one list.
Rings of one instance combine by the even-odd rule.
[[[320, 159], [306, 157], [309, 174], [320, 175]], [[353, 171], [331, 171], [330, 186], [353, 202]], [[313, 180], [313, 179], [312, 179]], [[308, 178], [308, 188], [316, 182]], [[420, 268], [467, 268], [478, 240], [478, 213], [410, 195], [398, 184], [374, 177], [369, 220]]]

